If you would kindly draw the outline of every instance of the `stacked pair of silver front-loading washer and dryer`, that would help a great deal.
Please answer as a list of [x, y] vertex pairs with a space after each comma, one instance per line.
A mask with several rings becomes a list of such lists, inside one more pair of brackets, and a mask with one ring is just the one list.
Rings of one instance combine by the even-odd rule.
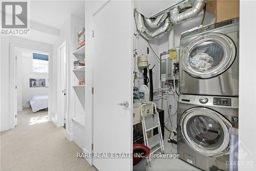
[[238, 129], [239, 19], [182, 33], [178, 154], [203, 170], [228, 170], [229, 130]]

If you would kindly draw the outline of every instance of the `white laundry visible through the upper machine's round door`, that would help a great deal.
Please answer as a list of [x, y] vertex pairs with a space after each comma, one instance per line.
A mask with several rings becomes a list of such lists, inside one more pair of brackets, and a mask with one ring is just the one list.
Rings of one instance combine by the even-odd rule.
[[190, 65], [200, 70], [207, 71], [214, 63], [214, 59], [207, 53], [199, 53], [190, 58]]

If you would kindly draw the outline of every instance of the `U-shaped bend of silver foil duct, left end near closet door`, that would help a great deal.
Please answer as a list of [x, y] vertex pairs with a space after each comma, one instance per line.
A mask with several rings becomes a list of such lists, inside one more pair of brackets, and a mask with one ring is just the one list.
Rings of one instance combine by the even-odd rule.
[[134, 17], [135, 17], [135, 23], [136, 23], [137, 30], [147, 40], [154, 39], [169, 30], [169, 26], [170, 26], [169, 18], [166, 18], [164, 20], [163, 26], [159, 27], [154, 32], [151, 32], [145, 27], [143, 15], [141, 15], [136, 9], [134, 10]]

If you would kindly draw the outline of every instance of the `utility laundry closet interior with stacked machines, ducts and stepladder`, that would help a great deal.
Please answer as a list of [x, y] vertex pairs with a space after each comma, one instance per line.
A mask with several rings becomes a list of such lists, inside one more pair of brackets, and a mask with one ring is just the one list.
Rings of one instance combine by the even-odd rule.
[[135, 1], [133, 59], [133, 170], [236, 170], [239, 1]]

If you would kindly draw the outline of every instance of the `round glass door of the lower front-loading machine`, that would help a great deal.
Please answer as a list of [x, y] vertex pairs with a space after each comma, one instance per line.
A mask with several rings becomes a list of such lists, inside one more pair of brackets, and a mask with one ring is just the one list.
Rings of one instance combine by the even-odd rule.
[[191, 108], [182, 114], [179, 126], [185, 142], [198, 153], [211, 157], [229, 153], [232, 124], [216, 111]]

